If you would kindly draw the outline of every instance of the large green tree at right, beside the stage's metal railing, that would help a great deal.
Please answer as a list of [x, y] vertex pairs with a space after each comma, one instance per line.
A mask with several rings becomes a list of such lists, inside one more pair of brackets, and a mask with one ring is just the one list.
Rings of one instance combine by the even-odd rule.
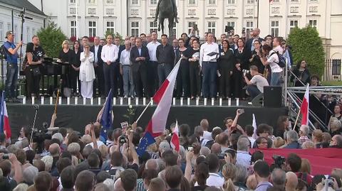
[[301, 60], [306, 60], [311, 74], [323, 75], [325, 53], [316, 28], [311, 26], [296, 27], [291, 30], [286, 41], [292, 47], [294, 65]]

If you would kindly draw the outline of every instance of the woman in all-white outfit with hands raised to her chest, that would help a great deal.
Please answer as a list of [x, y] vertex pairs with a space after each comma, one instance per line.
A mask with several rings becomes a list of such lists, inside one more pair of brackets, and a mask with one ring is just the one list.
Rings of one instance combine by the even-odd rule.
[[90, 52], [90, 46], [88, 44], [83, 46], [83, 52], [81, 53], [80, 60], [81, 94], [83, 98], [91, 98], [93, 97], [95, 70], [93, 66], [94, 54]]

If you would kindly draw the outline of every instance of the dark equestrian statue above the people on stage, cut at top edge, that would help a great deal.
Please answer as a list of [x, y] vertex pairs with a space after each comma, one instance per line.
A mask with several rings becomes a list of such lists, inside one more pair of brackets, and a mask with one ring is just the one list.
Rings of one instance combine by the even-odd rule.
[[164, 19], [168, 18], [169, 36], [172, 36], [173, 22], [175, 21], [176, 23], [178, 23], [177, 6], [175, 0], [158, 0], [154, 22], [157, 22], [158, 18], [158, 31], [160, 31], [160, 26], [162, 26], [162, 33], [164, 33]]

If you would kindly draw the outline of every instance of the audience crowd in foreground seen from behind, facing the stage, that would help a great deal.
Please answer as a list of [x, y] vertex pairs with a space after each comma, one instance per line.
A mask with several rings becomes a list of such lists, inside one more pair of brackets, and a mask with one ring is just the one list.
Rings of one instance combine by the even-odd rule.
[[[0, 190], [341, 190], [340, 168], [311, 175], [310, 161], [296, 153], [280, 164], [264, 160], [268, 148], [342, 148], [341, 120], [333, 116], [328, 132], [301, 126], [297, 133], [287, 116], [279, 116], [275, 127], [259, 124], [254, 130], [239, 126], [241, 114], [238, 109], [224, 119], [223, 128], [209, 126], [207, 119], [193, 132], [181, 124], [179, 151], [172, 147], [171, 124], [139, 155], [144, 131], [136, 123], [110, 129], [106, 141], [100, 141], [98, 122], [83, 135], [59, 128], [41, 136], [24, 126], [14, 144], [0, 135]], [[51, 127], [56, 119], [53, 114]]]

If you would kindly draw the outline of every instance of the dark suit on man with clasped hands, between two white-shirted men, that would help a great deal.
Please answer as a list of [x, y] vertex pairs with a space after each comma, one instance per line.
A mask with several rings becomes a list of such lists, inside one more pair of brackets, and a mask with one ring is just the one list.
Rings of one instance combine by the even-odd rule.
[[[144, 57], [145, 60], [137, 61], [136, 58]], [[145, 46], [141, 47], [141, 53], [139, 53], [138, 48], [135, 46], [130, 50], [130, 61], [133, 63], [133, 83], [135, 85], [135, 92], [138, 97], [142, 97], [142, 89], [144, 90], [145, 97], [148, 97], [150, 92], [149, 85], [147, 82], [147, 62], [150, 60], [150, 55], [148, 55], [148, 49]]]

